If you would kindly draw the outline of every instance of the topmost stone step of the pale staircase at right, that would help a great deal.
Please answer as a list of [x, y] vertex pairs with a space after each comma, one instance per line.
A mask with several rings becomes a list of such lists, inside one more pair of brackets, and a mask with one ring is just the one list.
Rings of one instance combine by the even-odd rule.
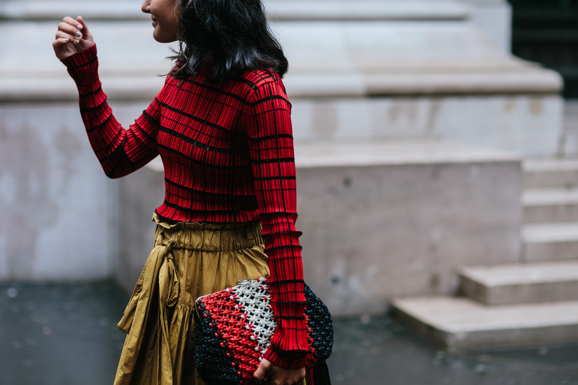
[[578, 159], [526, 160], [525, 188], [575, 188], [578, 186]]

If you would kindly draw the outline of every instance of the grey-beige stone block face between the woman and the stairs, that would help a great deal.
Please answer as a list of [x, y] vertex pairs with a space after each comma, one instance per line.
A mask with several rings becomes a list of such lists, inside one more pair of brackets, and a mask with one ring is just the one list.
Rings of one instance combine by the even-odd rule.
[[306, 282], [332, 314], [449, 294], [462, 266], [519, 261], [519, 163], [298, 169]]

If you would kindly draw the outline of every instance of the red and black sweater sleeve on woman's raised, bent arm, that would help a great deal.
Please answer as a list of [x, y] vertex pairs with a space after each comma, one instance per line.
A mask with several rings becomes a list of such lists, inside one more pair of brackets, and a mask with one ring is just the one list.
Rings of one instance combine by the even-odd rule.
[[114, 118], [98, 79], [97, 46], [76, 53], [62, 62], [76, 82], [80, 115], [88, 140], [106, 176], [123, 177], [158, 155], [159, 100], [163, 91], [129, 129], [124, 129]]

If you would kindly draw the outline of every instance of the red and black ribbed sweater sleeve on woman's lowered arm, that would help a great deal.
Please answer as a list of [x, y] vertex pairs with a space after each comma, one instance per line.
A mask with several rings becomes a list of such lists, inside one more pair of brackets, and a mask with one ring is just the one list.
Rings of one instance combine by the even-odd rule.
[[301, 231], [295, 229], [297, 193], [291, 104], [279, 77], [255, 90], [251, 106], [247, 134], [277, 322], [264, 357], [280, 367], [302, 368], [309, 344], [304, 316]]

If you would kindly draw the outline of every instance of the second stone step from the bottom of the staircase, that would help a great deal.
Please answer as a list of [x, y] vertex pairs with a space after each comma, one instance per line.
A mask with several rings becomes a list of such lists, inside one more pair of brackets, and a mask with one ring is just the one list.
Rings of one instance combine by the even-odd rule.
[[460, 287], [484, 305], [578, 301], [578, 260], [466, 267]]

